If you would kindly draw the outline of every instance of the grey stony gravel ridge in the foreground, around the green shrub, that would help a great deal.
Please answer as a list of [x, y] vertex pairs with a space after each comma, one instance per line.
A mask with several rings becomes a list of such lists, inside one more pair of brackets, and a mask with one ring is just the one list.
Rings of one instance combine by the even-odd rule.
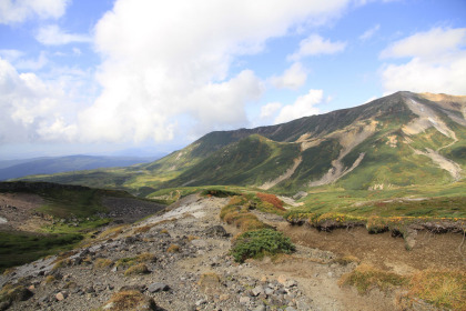
[[297, 245], [274, 261], [234, 262], [236, 229], [219, 219], [226, 203], [193, 194], [84, 248], [16, 268], [0, 277], [13, 292], [0, 310], [126, 310], [124, 299], [138, 300], [134, 310], [394, 310], [385, 293], [341, 288], [356, 263], [327, 251]]

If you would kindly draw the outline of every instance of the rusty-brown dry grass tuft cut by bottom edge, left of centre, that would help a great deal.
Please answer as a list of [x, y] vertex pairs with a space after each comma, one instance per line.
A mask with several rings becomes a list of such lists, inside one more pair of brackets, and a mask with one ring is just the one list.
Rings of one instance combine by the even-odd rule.
[[126, 311], [126, 310], [156, 310], [153, 299], [139, 291], [121, 291], [113, 297], [99, 310]]

